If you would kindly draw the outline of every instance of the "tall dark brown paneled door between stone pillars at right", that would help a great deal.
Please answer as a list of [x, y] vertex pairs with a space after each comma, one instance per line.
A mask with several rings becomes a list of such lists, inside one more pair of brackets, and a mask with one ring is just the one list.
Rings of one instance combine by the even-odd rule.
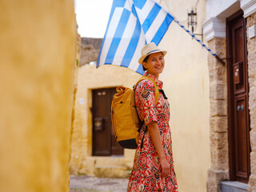
[[246, 20], [242, 10], [227, 18], [227, 81], [229, 96], [230, 180], [248, 182], [250, 176], [250, 118]]

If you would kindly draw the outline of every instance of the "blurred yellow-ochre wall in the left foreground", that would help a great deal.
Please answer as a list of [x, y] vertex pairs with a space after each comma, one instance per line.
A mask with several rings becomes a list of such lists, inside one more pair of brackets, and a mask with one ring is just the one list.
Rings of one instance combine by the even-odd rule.
[[0, 1], [0, 191], [68, 191], [74, 2]]

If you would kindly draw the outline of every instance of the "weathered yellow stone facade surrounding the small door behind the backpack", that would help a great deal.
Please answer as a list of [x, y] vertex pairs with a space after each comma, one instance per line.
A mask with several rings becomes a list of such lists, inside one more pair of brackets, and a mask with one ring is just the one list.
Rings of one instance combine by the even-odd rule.
[[95, 61], [101, 42], [101, 38], [81, 38], [78, 86], [75, 89], [72, 117], [70, 174], [126, 178], [130, 174], [133, 150], [125, 150], [123, 156], [117, 157], [93, 155], [93, 91], [120, 85], [132, 86], [141, 75], [118, 66], [96, 69]]

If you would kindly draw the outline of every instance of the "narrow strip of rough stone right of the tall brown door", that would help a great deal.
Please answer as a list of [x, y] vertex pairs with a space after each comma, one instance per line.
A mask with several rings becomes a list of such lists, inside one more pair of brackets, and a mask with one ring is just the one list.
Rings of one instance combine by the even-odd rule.
[[[256, 25], [256, 14], [247, 18], [247, 33], [250, 26]], [[248, 76], [249, 76], [249, 110], [250, 110], [250, 179], [248, 191], [256, 191], [256, 37], [247, 34]]]

